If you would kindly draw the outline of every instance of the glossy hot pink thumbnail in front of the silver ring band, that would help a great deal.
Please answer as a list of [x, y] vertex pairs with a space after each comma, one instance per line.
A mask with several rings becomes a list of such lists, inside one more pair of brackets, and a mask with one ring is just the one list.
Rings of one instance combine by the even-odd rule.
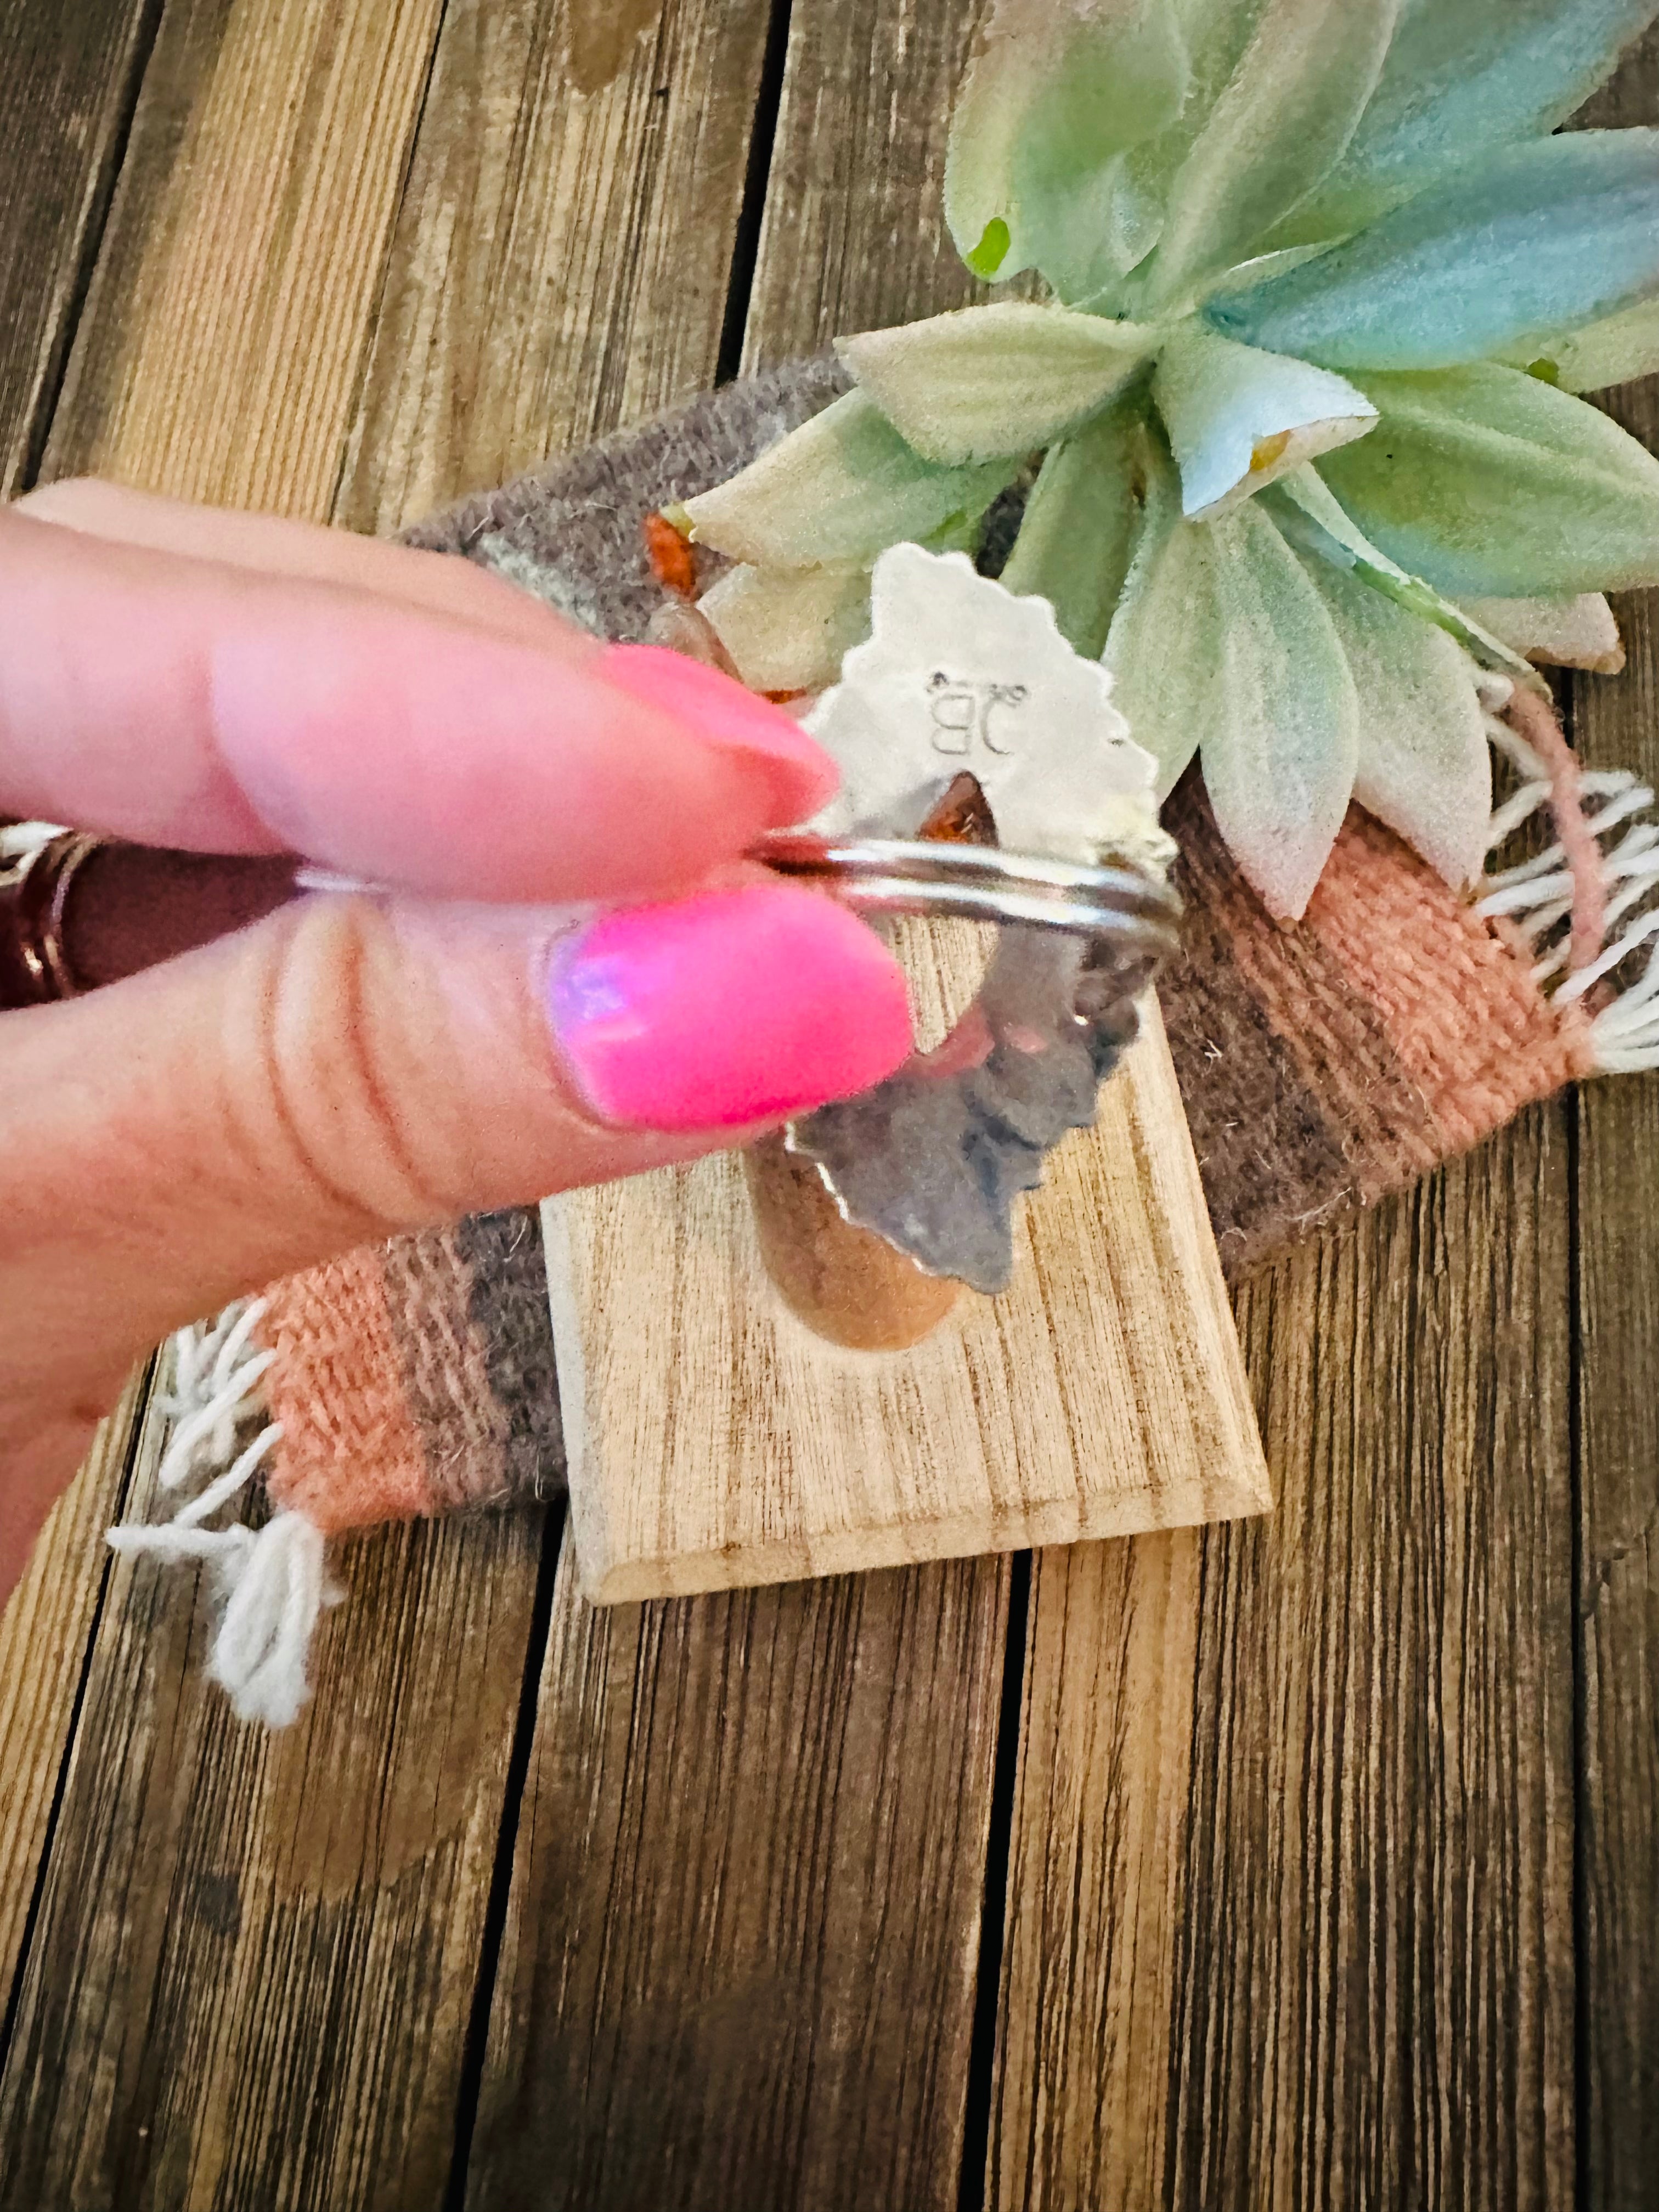
[[911, 1046], [898, 962], [794, 885], [608, 914], [557, 947], [553, 1033], [622, 1128], [741, 1128], [867, 1091]]

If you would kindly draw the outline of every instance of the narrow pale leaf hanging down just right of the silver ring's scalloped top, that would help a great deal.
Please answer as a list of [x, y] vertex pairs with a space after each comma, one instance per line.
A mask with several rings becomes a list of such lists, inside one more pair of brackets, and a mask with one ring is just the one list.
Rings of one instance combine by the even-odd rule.
[[1225, 628], [1214, 588], [1214, 533], [1181, 520], [1181, 484], [1166, 453], [1152, 453], [1135, 555], [1102, 659], [1130, 737], [1157, 761], [1157, 796], [1168, 799], [1199, 739], [1223, 712]]

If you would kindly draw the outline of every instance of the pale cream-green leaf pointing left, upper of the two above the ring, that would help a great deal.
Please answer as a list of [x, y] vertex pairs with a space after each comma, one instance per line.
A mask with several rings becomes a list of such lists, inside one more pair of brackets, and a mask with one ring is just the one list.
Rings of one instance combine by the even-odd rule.
[[836, 338], [836, 352], [922, 460], [960, 465], [1048, 445], [1104, 407], [1155, 343], [1137, 323], [1011, 299]]

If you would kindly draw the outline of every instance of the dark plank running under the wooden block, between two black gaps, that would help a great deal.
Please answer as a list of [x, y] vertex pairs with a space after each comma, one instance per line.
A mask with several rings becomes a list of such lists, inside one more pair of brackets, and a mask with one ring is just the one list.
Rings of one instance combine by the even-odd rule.
[[[940, 124], [969, 13], [796, 0], [752, 358], [960, 296], [887, 133]], [[471, 2205], [956, 2205], [1006, 1582], [593, 1615], [562, 1562]]]

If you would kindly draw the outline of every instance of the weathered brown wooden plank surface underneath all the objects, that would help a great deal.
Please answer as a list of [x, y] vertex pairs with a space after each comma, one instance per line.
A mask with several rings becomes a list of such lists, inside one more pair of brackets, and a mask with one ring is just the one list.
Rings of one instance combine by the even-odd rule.
[[[396, 529], [969, 299], [973, 20], [13, 0], [2, 487]], [[135, 1378], [0, 1621], [0, 2205], [1650, 2205], [1657, 1148], [1593, 1086], [1248, 1285], [1265, 1524], [604, 1615], [405, 1531], [274, 1743], [100, 1557]]]

